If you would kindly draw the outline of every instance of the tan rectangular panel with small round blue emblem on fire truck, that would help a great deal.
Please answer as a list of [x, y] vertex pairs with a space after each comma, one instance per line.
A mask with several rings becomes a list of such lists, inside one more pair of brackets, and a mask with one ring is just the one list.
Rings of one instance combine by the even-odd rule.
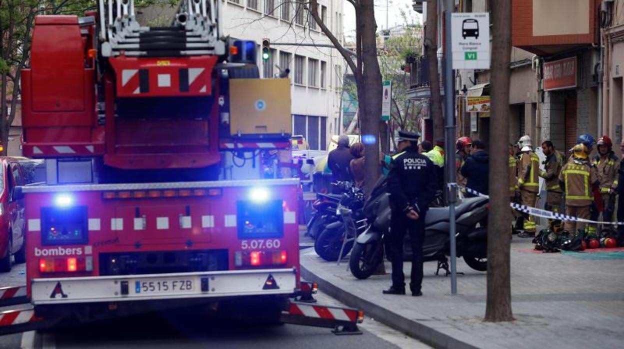
[[292, 134], [289, 79], [230, 80], [230, 132]]

